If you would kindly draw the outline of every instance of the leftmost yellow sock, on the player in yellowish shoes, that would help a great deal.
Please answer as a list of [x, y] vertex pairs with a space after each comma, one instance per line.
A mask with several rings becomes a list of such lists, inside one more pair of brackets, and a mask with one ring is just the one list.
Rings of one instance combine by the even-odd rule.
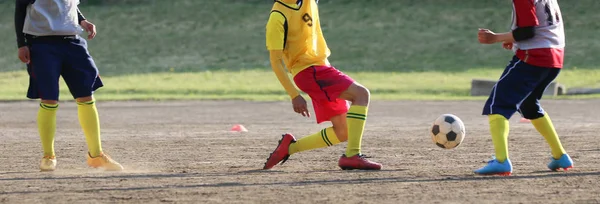
[[44, 149], [44, 156], [54, 156], [54, 134], [56, 134], [56, 110], [58, 104], [50, 105], [40, 103], [40, 110], [38, 111], [38, 131], [40, 133], [40, 140], [42, 141], [42, 148]]

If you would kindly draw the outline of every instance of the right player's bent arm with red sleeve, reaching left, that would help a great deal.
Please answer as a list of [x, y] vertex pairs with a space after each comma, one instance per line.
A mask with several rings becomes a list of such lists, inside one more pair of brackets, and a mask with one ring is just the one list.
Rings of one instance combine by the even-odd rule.
[[493, 44], [497, 42], [513, 43], [531, 39], [535, 36], [535, 26], [539, 25], [535, 4], [531, 0], [513, 0], [517, 28], [506, 33], [494, 33], [487, 29], [479, 29], [479, 42]]

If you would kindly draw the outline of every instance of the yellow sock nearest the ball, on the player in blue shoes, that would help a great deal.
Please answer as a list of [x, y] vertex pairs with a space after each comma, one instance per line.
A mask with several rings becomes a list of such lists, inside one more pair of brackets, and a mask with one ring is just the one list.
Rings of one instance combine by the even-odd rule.
[[496, 150], [496, 159], [504, 162], [508, 159], [508, 119], [500, 114], [489, 115], [492, 142]]

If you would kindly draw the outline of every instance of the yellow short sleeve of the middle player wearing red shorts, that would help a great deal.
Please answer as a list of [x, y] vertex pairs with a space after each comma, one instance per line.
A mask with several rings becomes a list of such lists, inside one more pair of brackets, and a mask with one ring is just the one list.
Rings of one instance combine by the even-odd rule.
[[267, 50], [283, 50], [287, 35], [287, 21], [279, 11], [271, 12], [267, 22]]

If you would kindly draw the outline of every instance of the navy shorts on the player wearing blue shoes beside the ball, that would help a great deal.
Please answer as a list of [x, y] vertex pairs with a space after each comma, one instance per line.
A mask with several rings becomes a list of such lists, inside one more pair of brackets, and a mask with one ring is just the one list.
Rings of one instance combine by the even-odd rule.
[[533, 66], [513, 57], [492, 88], [483, 115], [500, 114], [510, 119], [518, 111], [527, 119], [543, 117], [539, 100], [560, 70]]

